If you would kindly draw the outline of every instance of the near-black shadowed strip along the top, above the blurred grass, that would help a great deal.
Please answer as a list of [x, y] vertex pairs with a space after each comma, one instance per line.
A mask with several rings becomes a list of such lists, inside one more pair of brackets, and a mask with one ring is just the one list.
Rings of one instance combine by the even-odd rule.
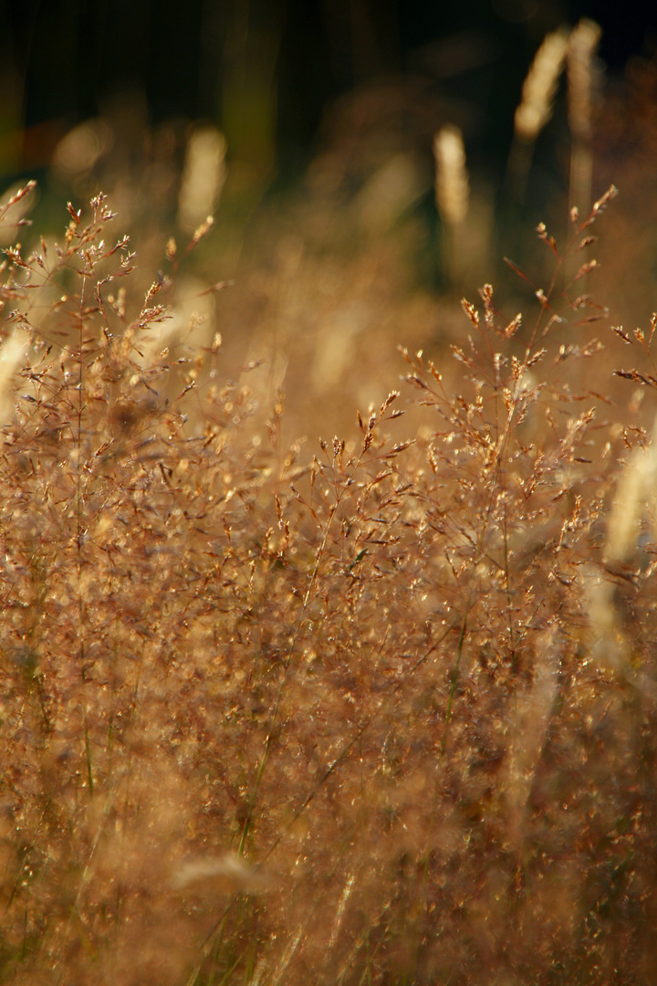
[[[295, 175], [341, 94], [419, 77], [477, 106], [475, 155], [508, 147], [513, 108], [543, 36], [584, 17], [603, 29], [608, 77], [651, 57], [654, 4], [581, 0], [24, 0], [0, 3], [0, 166], [47, 167], [67, 128], [117, 92], [152, 124], [209, 119], [231, 154], [272, 154]], [[645, 13], [646, 10], [651, 10]], [[500, 152], [501, 153], [501, 152]], [[505, 152], [503, 152], [505, 153]]]

